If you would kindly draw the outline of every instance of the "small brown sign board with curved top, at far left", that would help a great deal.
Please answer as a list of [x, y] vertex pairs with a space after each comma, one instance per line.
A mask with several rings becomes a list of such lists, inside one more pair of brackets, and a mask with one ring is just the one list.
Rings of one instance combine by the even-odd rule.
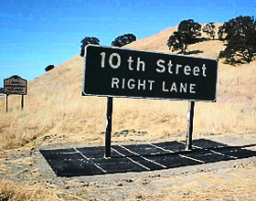
[[27, 80], [17, 75], [4, 79], [4, 93], [27, 95]]

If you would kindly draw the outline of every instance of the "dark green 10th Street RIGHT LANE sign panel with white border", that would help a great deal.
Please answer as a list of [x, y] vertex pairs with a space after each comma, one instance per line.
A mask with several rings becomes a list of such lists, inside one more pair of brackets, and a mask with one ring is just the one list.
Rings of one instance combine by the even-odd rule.
[[86, 47], [83, 95], [216, 101], [218, 60]]

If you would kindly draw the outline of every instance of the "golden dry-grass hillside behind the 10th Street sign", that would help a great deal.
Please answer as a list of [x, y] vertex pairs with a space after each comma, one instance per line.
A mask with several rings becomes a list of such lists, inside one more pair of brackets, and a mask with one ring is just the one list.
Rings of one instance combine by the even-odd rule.
[[[126, 48], [169, 52], [166, 40], [176, 30], [170, 27], [152, 37], [133, 42]], [[197, 57], [217, 58], [224, 48], [219, 40], [188, 47]], [[216, 103], [196, 103], [195, 133], [229, 134], [256, 131], [256, 62], [232, 67], [219, 61]], [[26, 143], [102, 143], [105, 129], [106, 98], [81, 97], [83, 58], [76, 56], [29, 82], [25, 110], [18, 96], [0, 100], [0, 147]], [[170, 100], [114, 99], [113, 139], [184, 139], [187, 102]], [[127, 130], [127, 131], [126, 131]]]

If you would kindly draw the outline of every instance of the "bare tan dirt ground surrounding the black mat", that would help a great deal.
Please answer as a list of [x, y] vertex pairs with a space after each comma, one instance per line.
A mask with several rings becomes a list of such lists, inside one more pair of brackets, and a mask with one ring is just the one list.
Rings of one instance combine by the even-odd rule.
[[[249, 145], [256, 144], [256, 133], [198, 134], [195, 139], [210, 139], [230, 146]], [[58, 192], [62, 200], [256, 200], [256, 156], [161, 171], [57, 177], [38, 152], [91, 145], [102, 144], [51, 141], [43, 146], [28, 144], [2, 152], [0, 179], [43, 186]], [[256, 146], [245, 149], [256, 151]]]

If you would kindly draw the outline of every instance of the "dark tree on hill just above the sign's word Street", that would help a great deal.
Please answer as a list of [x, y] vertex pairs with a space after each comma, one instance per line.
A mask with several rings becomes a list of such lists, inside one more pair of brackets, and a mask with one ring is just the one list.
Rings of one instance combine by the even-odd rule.
[[186, 54], [188, 45], [197, 42], [197, 37], [201, 36], [201, 25], [194, 22], [193, 19], [183, 20], [175, 31], [167, 40], [167, 46], [170, 50], [181, 50]]

